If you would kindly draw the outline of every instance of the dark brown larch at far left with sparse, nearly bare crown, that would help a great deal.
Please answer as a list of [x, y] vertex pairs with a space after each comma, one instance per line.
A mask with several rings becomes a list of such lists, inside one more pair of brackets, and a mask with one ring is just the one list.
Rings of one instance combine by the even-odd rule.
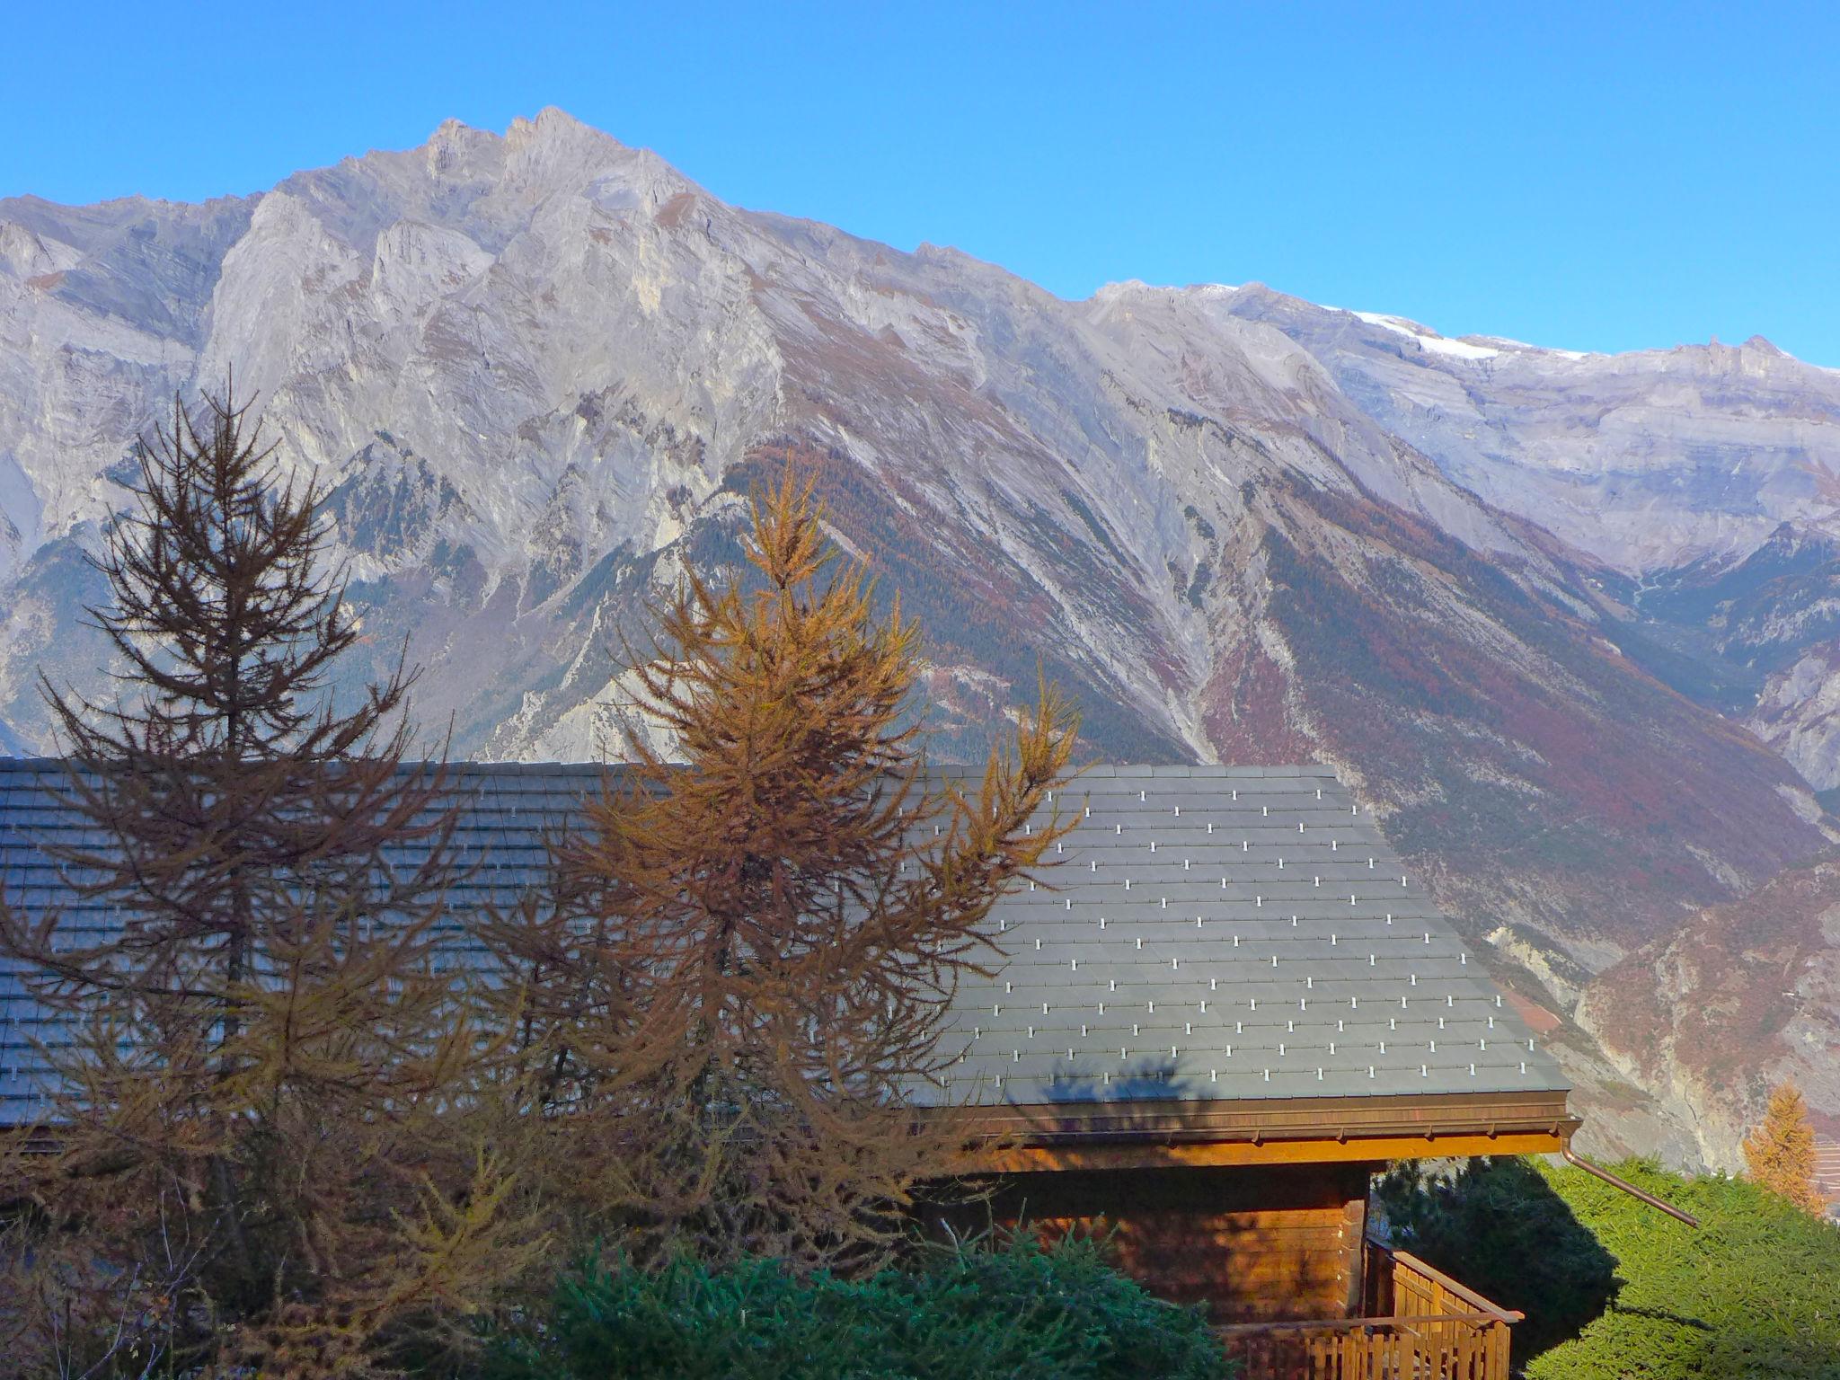
[[75, 1032], [37, 1152], [0, 1163], [29, 1205], [0, 1240], [0, 1349], [388, 1373], [530, 1253], [469, 1130], [489, 1041], [436, 953], [454, 813], [407, 760], [401, 659], [335, 705], [357, 618], [320, 495], [247, 408], [175, 401], [136, 456], [90, 609], [118, 694], [44, 684], [83, 822], [46, 850], [75, 902], [0, 905], [0, 953]]

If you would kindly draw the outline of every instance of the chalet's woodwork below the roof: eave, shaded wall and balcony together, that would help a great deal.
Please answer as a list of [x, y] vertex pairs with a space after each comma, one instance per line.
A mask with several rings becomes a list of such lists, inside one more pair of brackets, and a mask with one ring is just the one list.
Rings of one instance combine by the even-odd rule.
[[957, 1227], [1106, 1233], [1152, 1294], [1207, 1310], [1244, 1380], [1509, 1380], [1518, 1314], [1369, 1240], [1369, 1183], [1558, 1152], [1579, 1124], [1560, 1091], [960, 1115], [997, 1179]]

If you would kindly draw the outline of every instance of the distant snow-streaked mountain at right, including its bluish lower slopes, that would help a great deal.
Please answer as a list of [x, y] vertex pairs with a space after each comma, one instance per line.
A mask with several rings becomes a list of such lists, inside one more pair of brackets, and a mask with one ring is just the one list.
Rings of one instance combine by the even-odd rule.
[[1763, 337], [1630, 355], [1238, 294], [1454, 482], [1606, 567], [1638, 664], [1840, 786], [1840, 370]]

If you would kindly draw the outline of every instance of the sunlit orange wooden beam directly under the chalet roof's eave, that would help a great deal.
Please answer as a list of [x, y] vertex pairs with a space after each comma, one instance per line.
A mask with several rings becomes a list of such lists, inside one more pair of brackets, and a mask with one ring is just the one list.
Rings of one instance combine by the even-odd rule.
[[1018, 1144], [972, 1156], [972, 1172], [1030, 1174], [1073, 1168], [1176, 1168], [1209, 1165], [1347, 1165], [1356, 1161], [1444, 1159], [1465, 1156], [1547, 1156], [1564, 1148], [1551, 1132], [1501, 1135], [1386, 1135], [1362, 1139]]

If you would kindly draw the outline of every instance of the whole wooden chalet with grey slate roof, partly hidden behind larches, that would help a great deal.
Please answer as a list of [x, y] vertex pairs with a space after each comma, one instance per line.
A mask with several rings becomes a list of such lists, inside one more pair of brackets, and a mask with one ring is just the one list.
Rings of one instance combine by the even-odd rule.
[[[39, 843], [83, 822], [61, 764], [0, 760], [0, 878], [70, 905]], [[596, 765], [464, 764], [454, 911], [541, 878]], [[1076, 828], [990, 926], [944, 1089], [1005, 1174], [994, 1211], [1117, 1231], [1126, 1270], [1209, 1306], [1249, 1376], [1505, 1380], [1509, 1325], [1369, 1238], [1389, 1161], [1566, 1150], [1566, 1080], [1328, 767], [1093, 767]], [[466, 938], [454, 931], [456, 949]], [[29, 1122], [59, 1030], [0, 968], [0, 1121]]]

